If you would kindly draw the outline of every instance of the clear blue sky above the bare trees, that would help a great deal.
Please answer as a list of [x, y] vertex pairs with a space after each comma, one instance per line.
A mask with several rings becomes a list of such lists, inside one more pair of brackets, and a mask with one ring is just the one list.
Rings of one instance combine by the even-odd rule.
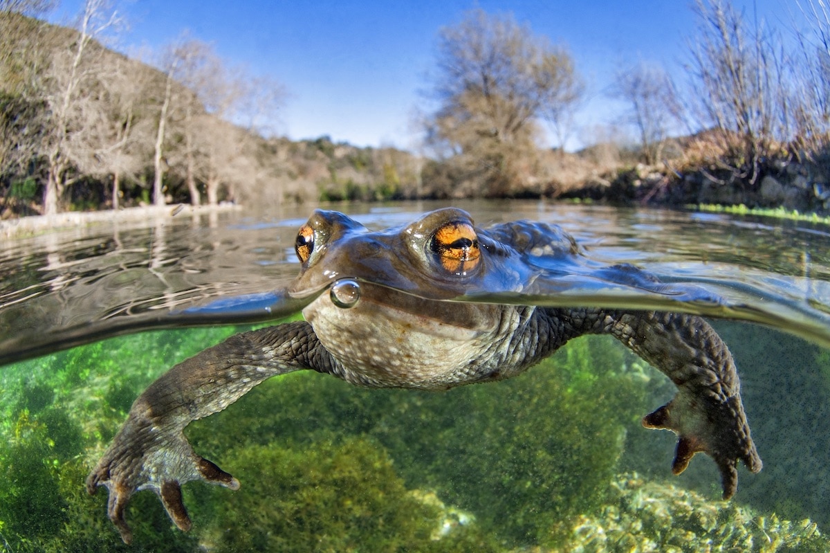
[[[537, 35], [568, 46], [587, 85], [569, 148], [591, 129], [618, 120], [622, 106], [605, 92], [620, 67], [663, 63], [679, 72], [686, 37], [696, 22], [686, 0], [562, 0], [495, 2], [218, 2], [126, 0], [116, 4], [129, 23], [119, 49], [159, 48], [184, 31], [212, 43], [229, 63], [271, 76], [290, 93], [277, 130], [292, 139], [330, 135], [361, 146], [417, 149], [413, 113], [423, 105], [435, 60], [437, 32], [464, 12], [512, 12]], [[748, 14], [789, 22], [794, 0], [736, 0]], [[63, 0], [50, 17], [71, 22], [82, 0]]]

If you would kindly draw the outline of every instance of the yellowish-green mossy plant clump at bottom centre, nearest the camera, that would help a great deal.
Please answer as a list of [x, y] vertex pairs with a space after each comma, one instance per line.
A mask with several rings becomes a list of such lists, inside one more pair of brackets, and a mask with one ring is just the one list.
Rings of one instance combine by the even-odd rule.
[[409, 492], [392, 459], [367, 438], [305, 448], [250, 445], [222, 456], [247, 485], [233, 494], [200, 487], [193, 510], [210, 551], [497, 551], [474, 524], [441, 532], [441, 502]]

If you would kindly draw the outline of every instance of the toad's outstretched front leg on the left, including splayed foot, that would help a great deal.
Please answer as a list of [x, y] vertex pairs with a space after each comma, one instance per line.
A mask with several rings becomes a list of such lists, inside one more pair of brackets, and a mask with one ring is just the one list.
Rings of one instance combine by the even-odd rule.
[[176, 526], [190, 528], [181, 486], [203, 480], [237, 489], [239, 482], [193, 452], [184, 428], [225, 409], [256, 384], [297, 369], [330, 372], [331, 359], [308, 323], [254, 330], [223, 341], [183, 361], [150, 384], [86, 479], [86, 489], [110, 492], [107, 511], [121, 539], [132, 534], [125, 521], [129, 498], [153, 490]]

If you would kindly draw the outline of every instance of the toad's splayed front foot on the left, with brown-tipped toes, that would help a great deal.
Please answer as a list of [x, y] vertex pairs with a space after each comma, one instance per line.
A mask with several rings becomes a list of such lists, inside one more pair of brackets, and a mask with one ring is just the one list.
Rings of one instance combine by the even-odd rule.
[[[142, 445], [146, 444], [146, 445]], [[182, 433], [168, 436], [159, 428], [137, 423], [130, 417], [110, 448], [86, 479], [86, 490], [94, 494], [104, 486], [110, 492], [107, 514], [125, 543], [132, 532], [125, 521], [125, 508], [134, 492], [152, 490], [159, 496], [170, 519], [183, 531], [191, 526], [182, 502], [182, 484], [203, 480], [239, 488], [239, 482], [214, 463], [193, 453]]]

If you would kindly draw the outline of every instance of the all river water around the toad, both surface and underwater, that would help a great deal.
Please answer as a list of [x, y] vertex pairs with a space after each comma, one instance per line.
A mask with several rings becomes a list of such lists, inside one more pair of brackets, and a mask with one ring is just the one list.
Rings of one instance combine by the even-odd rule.
[[[298, 272], [296, 230], [311, 208], [107, 223], [2, 243], [0, 358], [15, 362], [0, 369], [0, 551], [830, 549], [830, 229], [724, 214], [456, 205], [482, 226], [558, 223], [597, 262], [632, 262], [725, 298], [692, 311], [767, 322], [712, 321], [735, 355], [763, 471], [740, 467], [730, 502], [720, 501], [709, 458], [672, 476], [673, 434], [640, 419], [673, 385], [613, 338], [588, 336], [515, 379], [440, 394], [358, 389], [320, 374], [268, 380], [186, 432], [241, 489], [184, 486], [188, 533], [140, 492], [125, 546], [105, 492], [86, 494], [86, 474], [149, 382], [248, 328], [238, 320], [266, 318], [254, 300]], [[387, 228], [437, 207], [331, 208]], [[565, 291], [586, 302], [598, 292]], [[237, 296], [251, 299], [244, 316], [168, 318]], [[265, 296], [267, 317], [296, 311], [280, 299]], [[533, 300], [561, 297], [535, 290]], [[136, 331], [199, 321], [235, 325]]]

